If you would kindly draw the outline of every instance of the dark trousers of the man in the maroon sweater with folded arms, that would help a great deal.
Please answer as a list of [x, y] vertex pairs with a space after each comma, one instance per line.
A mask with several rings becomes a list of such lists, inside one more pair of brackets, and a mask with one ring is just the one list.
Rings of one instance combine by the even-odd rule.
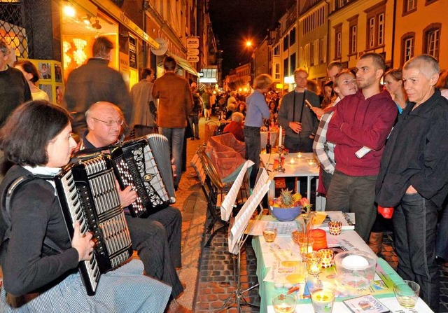
[[327, 190], [325, 211], [354, 212], [355, 230], [368, 242], [377, 207], [374, 205], [377, 175], [349, 176], [335, 171]]

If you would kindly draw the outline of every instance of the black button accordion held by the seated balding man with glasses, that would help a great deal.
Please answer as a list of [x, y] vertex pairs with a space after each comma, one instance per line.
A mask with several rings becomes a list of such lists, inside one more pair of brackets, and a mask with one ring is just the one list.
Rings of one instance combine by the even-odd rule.
[[167, 137], [148, 134], [126, 141], [111, 147], [111, 158], [120, 187], [137, 192], [129, 207], [133, 217], [147, 217], [176, 202]]

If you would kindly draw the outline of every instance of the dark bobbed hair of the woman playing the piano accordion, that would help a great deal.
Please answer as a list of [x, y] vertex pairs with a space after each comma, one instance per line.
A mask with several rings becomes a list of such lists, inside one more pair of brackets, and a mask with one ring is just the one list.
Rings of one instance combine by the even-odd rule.
[[47, 146], [71, 121], [69, 111], [45, 100], [26, 102], [0, 129], [0, 148], [18, 165], [45, 165]]

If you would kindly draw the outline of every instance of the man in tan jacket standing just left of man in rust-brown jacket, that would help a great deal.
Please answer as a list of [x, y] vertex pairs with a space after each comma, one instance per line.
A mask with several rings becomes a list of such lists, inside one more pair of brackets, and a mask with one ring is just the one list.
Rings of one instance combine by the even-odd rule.
[[152, 134], [157, 130], [157, 107], [155, 106], [155, 99], [152, 95], [155, 79], [153, 69], [142, 69], [140, 79], [141, 81], [131, 88], [131, 97], [134, 106], [132, 106], [130, 126], [133, 128], [135, 137]]

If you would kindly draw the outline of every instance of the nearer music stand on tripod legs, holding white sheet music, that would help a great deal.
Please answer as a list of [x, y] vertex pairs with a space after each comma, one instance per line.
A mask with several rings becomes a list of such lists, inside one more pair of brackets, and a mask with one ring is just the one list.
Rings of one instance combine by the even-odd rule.
[[[230, 309], [230, 307], [234, 307], [234, 304], [236, 304], [238, 313], [241, 312], [241, 305], [258, 307], [258, 305], [253, 305], [252, 303], [248, 302], [244, 298], [244, 293], [251, 291], [259, 284], [255, 284], [245, 290], [241, 290], [241, 248], [246, 242], [251, 229], [248, 229], [246, 235], [244, 235], [244, 231], [246, 230], [246, 228], [248, 228], [248, 223], [255, 209], [260, 206], [262, 210], [260, 202], [262, 198], [265, 197], [267, 190], [269, 190], [269, 183], [271, 183], [271, 180], [272, 176], [267, 175], [266, 169], [260, 169], [258, 172], [258, 181], [255, 183], [255, 188], [253, 188], [252, 195], [248, 198], [243, 207], [241, 207], [241, 210], [238, 212], [237, 216], [231, 219], [228, 243], [229, 252], [232, 253], [233, 281], [235, 288], [234, 291], [232, 291], [232, 293], [229, 295], [229, 298], [225, 300], [221, 309], [219, 309], [217, 312], [223, 312], [223, 310]], [[258, 219], [255, 220], [255, 223], [260, 219], [260, 217], [261, 214], [259, 214]], [[253, 225], [255, 225], [255, 223], [251, 225], [251, 228], [253, 228]], [[232, 303], [228, 305], [231, 300], [233, 300]]]

